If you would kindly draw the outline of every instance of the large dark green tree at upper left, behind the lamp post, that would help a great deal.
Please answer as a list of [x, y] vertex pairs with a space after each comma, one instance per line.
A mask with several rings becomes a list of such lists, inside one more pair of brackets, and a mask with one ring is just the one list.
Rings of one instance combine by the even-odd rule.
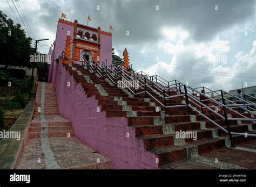
[[32, 38], [26, 37], [21, 25], [7, 18], [0, 11], [0, 64], [8, 66], [31, 67], [30, 55]]

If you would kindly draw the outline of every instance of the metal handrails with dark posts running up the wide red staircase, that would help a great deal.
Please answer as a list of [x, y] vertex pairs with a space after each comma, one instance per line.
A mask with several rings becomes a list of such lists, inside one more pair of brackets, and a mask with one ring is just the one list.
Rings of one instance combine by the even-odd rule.
[[[88, 63], [88, 62], [87, 62], [87, 63]], [[90, 68], [91, 68], [91, 69], [99, 68], [99, 70], [101, 71], [101, 68], [97, 66], [98, 64], [96, 64], [96, 67], [95, 67], [94, 64], [92, 64], [92, 63], [90, 62], [89, 65], [90, 65]], [[228, 134], [230, 135], [230, 140], [231, 140], [231, 145], [232, 145], [232, 147], [234, 147], [234, 142], [233, 142], [232, 134], [239, 134], [239, 135], [241, 135], [241, 134], [244, 134], [244, 133], [235, 133], [235, 132], [231, 132], [231, 131], [230, 131], [230, 126], [229, 126], [228, 121], [229, 121], [229, 120], [256, 121], [256, 119], [247, 118], [246, 116], [240, 114], [239, 112], [237, 112], [237, 111], [235, 111], [235, 110], [233, 110], [233, 109], [231, 108], [231, 107], [235, 107], [235, 106], [242, 107], [242, 106], [252, 106], [252, 105], [256, 105], [256, 104], [253, 104], [253, 103], [247, 102], [247, 101], [245, 101], [246, 104], [235, 104], [235, 103], [232, 102], [231, 100], [229, 100], [229, 99], [227, 99], [227, 98], [224, 98], [223, 93], [227, 93], [227, 92], [225, 92], [225, 91], [223, 91], [223, 90], [217, 90], [217, 91], [216, 91], [216, 90], [215, 90], [215, 91], [212, 91], [212, 90], [211, 90], [212, 92], [215, 92], [215, 93], [217, 93], [218, 95], [220, 95], [220, 94], [218, 93], [218, 91], [221, 91], [221, 99], [223, 100], [223, 103], [220, 103], [220, 102], [218, 101], [218, 100], [220, 100], [220, 98], [218, 98], [218, 100], [217, 100], [217, 99], [213, 99], [213, 98], [211, 98], [211, 97], [208, 97], [208, 96], [206, 95], [206, 94], [208, 94], [208, 93], [201, 93], [201, 92], [199, 92], [199, 91], [196, 90], [196, 89], [198, 89], [198, 88], [193, 89], [193, 88], [191, 88], [191, 87], [186, 87], [185, 84], [183, 84], [183, 83], [181, 83], [181, 82], [179, 82], [179, 81], [177, 81], [177, 80], [172, 80], [172, 81], [168, 81], [168, 82], [167, 82], [164, 78], [161, 78], [160, 76], [157, 76], [157, 75], [149, 76], [149, 75], [147, 75], [146, 73], [144, 73], [143, 71], [140, 71], [139, 73], [137, 73], [136, 71], [133, 71], [133, 77], [131, 77], [131, 76], [129, 75], [129, 72], [128, 72], [127, 70], [125, 70], [124, 68], [121, 68], [120, 70], [116, 70], [116, 69], [112, 70], [112, 69], [111, 69], [111, 72], [115, 75], [115, 77], [114, 77], [114, 76], [110, 73], [110, 71], [108, 70], [107, 67], [108, 67], [108, 66], [107, 66], [107, 64], [106, 64], [106, 67], [104, 67], [104, 70], [105, 70], [105, 73], [106, 73], [106, 74], [105, 74], [104, 76], [108, 76], [109, 78], [110, 78], [110, 76], [113, 77], [114, 80], [112, 80], [111, 78], [110, 78], [110, 79], [111, 79], [111, 81], [114, 82], [114, 83], [116, 83], [116, 79], [117, 79], [117, 78], [116, 78], [116, 75], [118, 75], [119, 73], [121, 74], [121, 75], [119, 76], [119, 77], [121, 77], [121, 80], [119, 80], [119, 81], [121, 81], [121, 82], [123, 82], [123, 80], [128, 81], [128, 78], [130, 78], [130, 80], [138, 81], [139, 83], [141, 83], [142, 88], [144, 87], [144, 91], [139, 92], [139, 93], [133, 92], [133, 90], [130, 89], [130, 87], [126, 87], [126, 88], [128, 88], [135, 96], [136, 96], [136, 95], [139, 95], [139, 94], [142, 94], [142, 93], [145, 93], [145, 97], [147, 97], [147, 95], [151, 96], [151, 97], [152, 97], [153, 99], [155, 99], [161, 106], [163, 106], [163, 107], [165, 108], [165, 110], [166, 110], [166, 108], [168, 108], [168, 107], [183, 107], [183, 106], [187, 106], [188, 114], [190, 114], [190, 109], [192, 109], [193, 111], [196, 111], [197, 113], [199, 113], [200, 115], [202, 115], [204, 118], [206, 118], [207, 120], [209, 120], [211, 123], [213, 123], [215, 126], [218, 126], [219, 128], [221, 128], [221, 130], [223, 130], [224, 132], [228, 133]], [[98, 72], [99, 72], [99, 70], [96, 69], [96, 71], [98, 71]], [[99, 73], [99, 74], [100, 74], [100, 73]], [[109, 74], [111, 74], [111, 75], [109, 76]], [[143, 75], [143, 74], [144, 74], [144, 75]], [[101, 74], [100, 74], [100, 76], [103, 77], [103, 75], [101, 75]], [[157, 78], [158, 78], [158, 80], [157, 80]], [[166, 84], [166, 83], [164, 83], [163, 81], [159, 80], [159, 78], [167, 82], [167, 88], [164, 87], [164, 85], [162, 85], [162, 84], [160, 84], [159, 82], [157, 82], [157, 81], [160, 81], [160, 82], [162, 82], [163, 84]], [[142, 80], [143, 80], [143, 79], [144, 79], [144, 84], [142, 83]], [[155, 79], [156, 79], [156, 81], [154, 81]], [[175, 83], [170, 85], [170, 83], [172, 83], [173, 81], [174, 81]], [[129, 82], [129, 81], [128, 81], [128, 82]], [[123, 82], [123, 83], [124, 83], [124, 82]], [[130, 82], [129, 82], [129, 83], [130, 83]], [[149, 83], [152, 83], [152, 85], [149, 85]], [[130, 85], [131, 85], [131, 88], [134, 88], [134, 89], [135, 89], [135, 87], [134, 87], [132, 84], [130, 84]], [[175, 86], [173, 86], [173, 85], [175, 85]], [[154, 88], [152, 88], [152, 87], [154, 87]], [[160, 93], [161, 93], [161, 94], [160, 94], [160, 97], [163, 98], [164, 104], [161, 103], [157, 98], [155, 98], [149, 91], [147, 91], [148, 88], [151, 89], [151, 90], [153, 90], [153, 91], [158, 90], [158, 91], [156, 91], [156, 92], [158, 92], [158, 93], [159, 93], [159, 91], [163, 91], [163, 93], [160, 92]], [[199, 88], [200, 88], [200, 87], [199, 87]], [[203, 87], [203, 88], [204, 88], [204, 89], [207, 89], [207, 88], [205, 88], [205, 87]], [[166, 97], [165, 91], [170, 91], [170, 90], [173, 90], [173, 89], [179, 89], [179, 94], [174, 95], [174, 96], [170, 96], [170, 95], [169, 95], [169, 97]], [[208, 89], [208, 90], [210, 90], [210, 89]], [[183, 93], [184, 93], [184, 94], [183, 94]], [[204, 100], [198, 99], [197, 96], [194, 96], [194, 93], [199, 94], [200, 98], [201, 98], [201, 96], [205, 96], [207, 99], [204, 99]], [[228, 95], [231, 95], [230, 93], [227, 93], [227, 94], [228, 94]], [[185, 96], [185, 98], [186, 98], [186, 104], [171, 105], [171, 106], [167, 106], [167, 105], [166, 105], [166, 99], [173, 98], [173, 97], [184, 97], [184, 96]], [[233, 95], [231, 95], [231, 96], [233, 96]], [[236, 97], [236, 96], [233, 96], [233, 97], [238, 98], [238, 97]], [[250, 96], [250, 97], [251, 97], [251, 96]], [[188, 100], [188, 98], [190, 98], [190, 101]], [[238, 99], [239, 99], [239, 100], [243, 100], [243, 99], [241, 99], [241, 98], [238, 98]], [[219, 114], [218, 112], [212, 110], [212, 109], [211, 109], [212, 106], [209, 107], [209, 106], [207, 106], [206, 104], [204, 104], [203, 102], [204, 102], [205, 100], [210, 100], [211, 102], [217, 104], [217, 107], [223, 107], [224, 116], [222, 116], [222, 115]], [[232, 103], [232, 104], [225, 104], [225, 100], [228, 101], [228, 102], [230, 102], [230, 103]], [[190, 102], [193, 103], [193, 104], [195, 104], [197, 107], [201, 108], [201, 112], [198, 111], [197, 109], [194, 109], [194, 107], [191, 106]], [[216, 107], [216, 106], [215, 106], [215, 107]], [[217, 115], [217, 116], [220, 117], [221, 119], [225, 120], [225, 121], [226, 121], [225, 123], [226, 123], [226, 126], [227, 126], [228, 130], [226, 130], [225, 128], [223, 128], [223, 127], [221, 127], [220, 125], [218, 125], [217, 123], [215, 123], [215, 121], [213, 121], [213, 120], [211, 120], [210, 118], [208, 118], [208, 117], [204, 114], [203, 108], [204, 108], [204, 109], [207, 109], [207, 110], [209, 110], [209, 111], [211, 111], [212, 113], [214, 113], [215, 115]], [[242, 118], [228, 118], [228, 117], [227, 117], [227, 112], [226, 112], [226, 110], [233, 111], [234, 113], [239, 114], [239, 116], [241, 116]], [[247, 135], [256, 136], [255, 134], [247, 134]]]

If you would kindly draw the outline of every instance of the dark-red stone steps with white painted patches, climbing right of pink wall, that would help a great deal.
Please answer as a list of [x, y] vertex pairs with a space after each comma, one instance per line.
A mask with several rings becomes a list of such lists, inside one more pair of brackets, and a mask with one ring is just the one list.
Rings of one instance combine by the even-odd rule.
[[[142, 95], [134, 97], [128, 89], [118, 88], [109, 79], [104, 79], [98, 74], [83, 68], [79, 64], [64, 65], [77, 84], [81, 84], [86, 97], [96, 96], [98, 104], [106, 112], [107, 118], [126, 117], [127, 125], [135, 128], [136, 137], [144, 141], [145, 149], [156, 154], [159, 167], [166, 164], [187, 160], [215, 149], [230, 146], [228, 135], [214, 126], [196, 112], [188, 115], [186, 107], [171, 107], [167, 113], [156, 100]], [[139, 88], [137, 92], [144, 91]], [[163, 102], [158, 93], [148, 89], [152, 96]], [[176, 90], [171, 95], [177, 94]], [[184, 104], [181, 97], [166, 100], [167, 105]], [[205, 111], [207, 117], [225, 127], [225, 121], [218, 116]], [[220, 110], [219, 113], [223, 114]], [[232, 112], [228, 112], [232, 116]], [[248, 124], [235, 124], [232, 121], [231, 130], [234, 132], [249, 132]], [[255, 129], [255, 125], [252, 125]], [[226, 127], [225, 127], [226, 128]], [[195, 131], [197, 140], [193, 138], [176, 138], [177, 131]], [[252, 141], [253, 138], [234, 136], [235, 143]]]

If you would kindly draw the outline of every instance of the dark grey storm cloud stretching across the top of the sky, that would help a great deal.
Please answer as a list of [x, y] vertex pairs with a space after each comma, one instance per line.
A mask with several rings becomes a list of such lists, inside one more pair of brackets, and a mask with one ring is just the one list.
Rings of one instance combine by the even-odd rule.
[[[100, 10], [97, 10], [99, 5]], [[159, 10], [156, 10], [159, 5]], [[215, 5], [218, 10], [215, 11]], [[162, 39], [162, 27], [181, 26], [195, 41], [211, 40], [215, 34], [239, 24], [253, 16], [254, 1], [43, 1], [41, 9], [48, 15], [39, 17], [40, 23], [56, 32], [56, 23], [61, 12], [70, 21], [78, 19], [86, 24], [89, 14], [91, 26], [101, 26], [108, 31], [114, 28], [113, 44], [143, 45]], [[38, 23], [39, 24], [39, 23]], [[126, 36], [126, 31], [130, 36]]]

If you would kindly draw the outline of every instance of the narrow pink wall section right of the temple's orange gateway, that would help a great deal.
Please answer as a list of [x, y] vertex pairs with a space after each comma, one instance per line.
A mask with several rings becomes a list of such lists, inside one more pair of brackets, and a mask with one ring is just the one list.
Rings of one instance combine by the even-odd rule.
[[107, 59], [107, 64], [112, 64], [112, 37], [100, 34], [100, 61]]

